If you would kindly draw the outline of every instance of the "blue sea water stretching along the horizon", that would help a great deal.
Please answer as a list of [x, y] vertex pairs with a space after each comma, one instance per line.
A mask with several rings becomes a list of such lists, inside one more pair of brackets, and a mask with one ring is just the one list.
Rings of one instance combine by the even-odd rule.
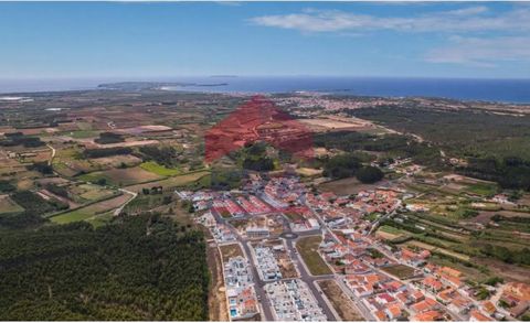
[[[124, 79], [0, 80], [0, 93], [75, 90], [96, 88], [100, 83]], [[529, 79], [470, 78], [383, 78], [383, 77], [181, 77], [128, 79], [142, 82], [183, 82], [197, 86], [176, 86], [171, 90], [214, 93], [322, 91], [338, 95], [384, 97], [444, 97], [516, 104], [530, 103]]]

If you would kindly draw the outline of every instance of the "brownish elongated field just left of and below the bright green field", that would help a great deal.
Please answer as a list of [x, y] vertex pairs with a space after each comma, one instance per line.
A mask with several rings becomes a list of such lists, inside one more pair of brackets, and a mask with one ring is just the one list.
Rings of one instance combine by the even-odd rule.
[[108, 171], [93, 172], [80, 176], [80, 180], [91, 183], [112, 184], [116, 186], [127, 186], [149, 181], [160, 180], [162, 176], [145, 171], [141, 168], [131, 169], [112, 169]]

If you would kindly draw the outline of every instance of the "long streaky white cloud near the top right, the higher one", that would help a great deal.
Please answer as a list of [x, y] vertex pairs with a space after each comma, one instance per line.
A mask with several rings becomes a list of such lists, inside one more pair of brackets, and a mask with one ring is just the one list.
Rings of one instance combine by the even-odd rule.
[[299, 13], [252, 18], [257, 25], [301, 32], [363, 32], [394, 30], [400, 32], [480, 32], [530, 31], [530, 8], [494, 13], [484, 6], [438, 11], [415, 17], [378, 17], [344, 11], [306, 10]]

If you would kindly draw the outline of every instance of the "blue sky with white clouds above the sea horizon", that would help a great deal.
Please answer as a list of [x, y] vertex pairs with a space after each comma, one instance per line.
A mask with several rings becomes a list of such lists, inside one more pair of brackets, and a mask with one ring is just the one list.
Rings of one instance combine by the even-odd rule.
[[0, 78], [530, 78], [530, 6], [3, 2]]

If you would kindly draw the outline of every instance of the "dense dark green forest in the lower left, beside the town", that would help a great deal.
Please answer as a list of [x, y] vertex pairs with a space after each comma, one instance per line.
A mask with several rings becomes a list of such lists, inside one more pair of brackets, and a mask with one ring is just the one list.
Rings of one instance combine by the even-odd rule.
[[0, 235], [2, 321], [204, 321], [208, 288], [202, 233], [159, 216]]

